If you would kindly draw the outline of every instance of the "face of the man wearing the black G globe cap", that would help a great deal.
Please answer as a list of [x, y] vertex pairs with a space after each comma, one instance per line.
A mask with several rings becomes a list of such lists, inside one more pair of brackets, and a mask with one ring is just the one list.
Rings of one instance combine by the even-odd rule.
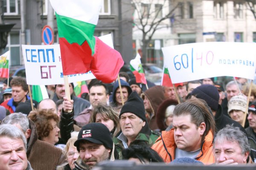
[[91, 142], [80, 142], [79, 149], [81, 159], [90, 169], [94, 167], [95, 164], [107, 160], [111, 151], [111, 149], [107, 149], [103, 144]]

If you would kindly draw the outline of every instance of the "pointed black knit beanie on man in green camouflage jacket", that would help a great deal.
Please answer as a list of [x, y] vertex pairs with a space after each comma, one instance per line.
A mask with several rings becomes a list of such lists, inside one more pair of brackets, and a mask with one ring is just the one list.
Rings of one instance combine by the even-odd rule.
[[146, 121], [144, 103], [136, 91], [133, 91], [130, 94], [127, 102], [125, 103], [125, 105], [123, 105], [119, 114], [119, 119], [123, 113], [134, 113], [143, 121]]

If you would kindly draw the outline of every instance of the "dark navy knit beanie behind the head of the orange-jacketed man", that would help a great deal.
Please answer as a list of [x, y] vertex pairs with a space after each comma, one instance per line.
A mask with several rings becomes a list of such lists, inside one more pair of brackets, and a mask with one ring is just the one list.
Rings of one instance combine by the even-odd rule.
[[212, 110], [217, 111], [220, 96], [218, 89], [213, 85], [200, 85], [191, 92], [191, 95], [203, 99]]

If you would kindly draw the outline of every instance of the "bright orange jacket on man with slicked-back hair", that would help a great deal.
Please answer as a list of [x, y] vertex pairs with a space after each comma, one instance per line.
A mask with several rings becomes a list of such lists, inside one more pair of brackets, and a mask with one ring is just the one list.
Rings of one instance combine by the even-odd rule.
[[[209, 132], [207, 136], [205, 136], [203, 147], [197, 156], [197, 160], [203, 162], [204, 164], [215, 163], [214, 155], [212, 153], [212, 140], [213, 134], [212, 132]], [[170, 155], [167, 153], [163, 142]], [[175, 159], [176, 147], [177, 146], [174, 140], [174, 129], [171, 129], [170, 131], [162, 131], [161, 136], [156, 140], [155, 144], [151, 148], [157, 151], [157, 153], [163, 158], [163, 161], [169, 163]]]

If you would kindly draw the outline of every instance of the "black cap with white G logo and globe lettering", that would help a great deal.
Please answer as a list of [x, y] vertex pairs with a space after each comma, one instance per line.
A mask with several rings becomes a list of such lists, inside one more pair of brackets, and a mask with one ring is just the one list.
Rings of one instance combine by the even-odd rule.
[[79, 151], [79, 143], [89, 141], [96, 144], [103, 144], [106, 148], [113, 149], [113, 140], [108, 127], [102, 123], [88, 123], [78, 133], [74, 146]]

